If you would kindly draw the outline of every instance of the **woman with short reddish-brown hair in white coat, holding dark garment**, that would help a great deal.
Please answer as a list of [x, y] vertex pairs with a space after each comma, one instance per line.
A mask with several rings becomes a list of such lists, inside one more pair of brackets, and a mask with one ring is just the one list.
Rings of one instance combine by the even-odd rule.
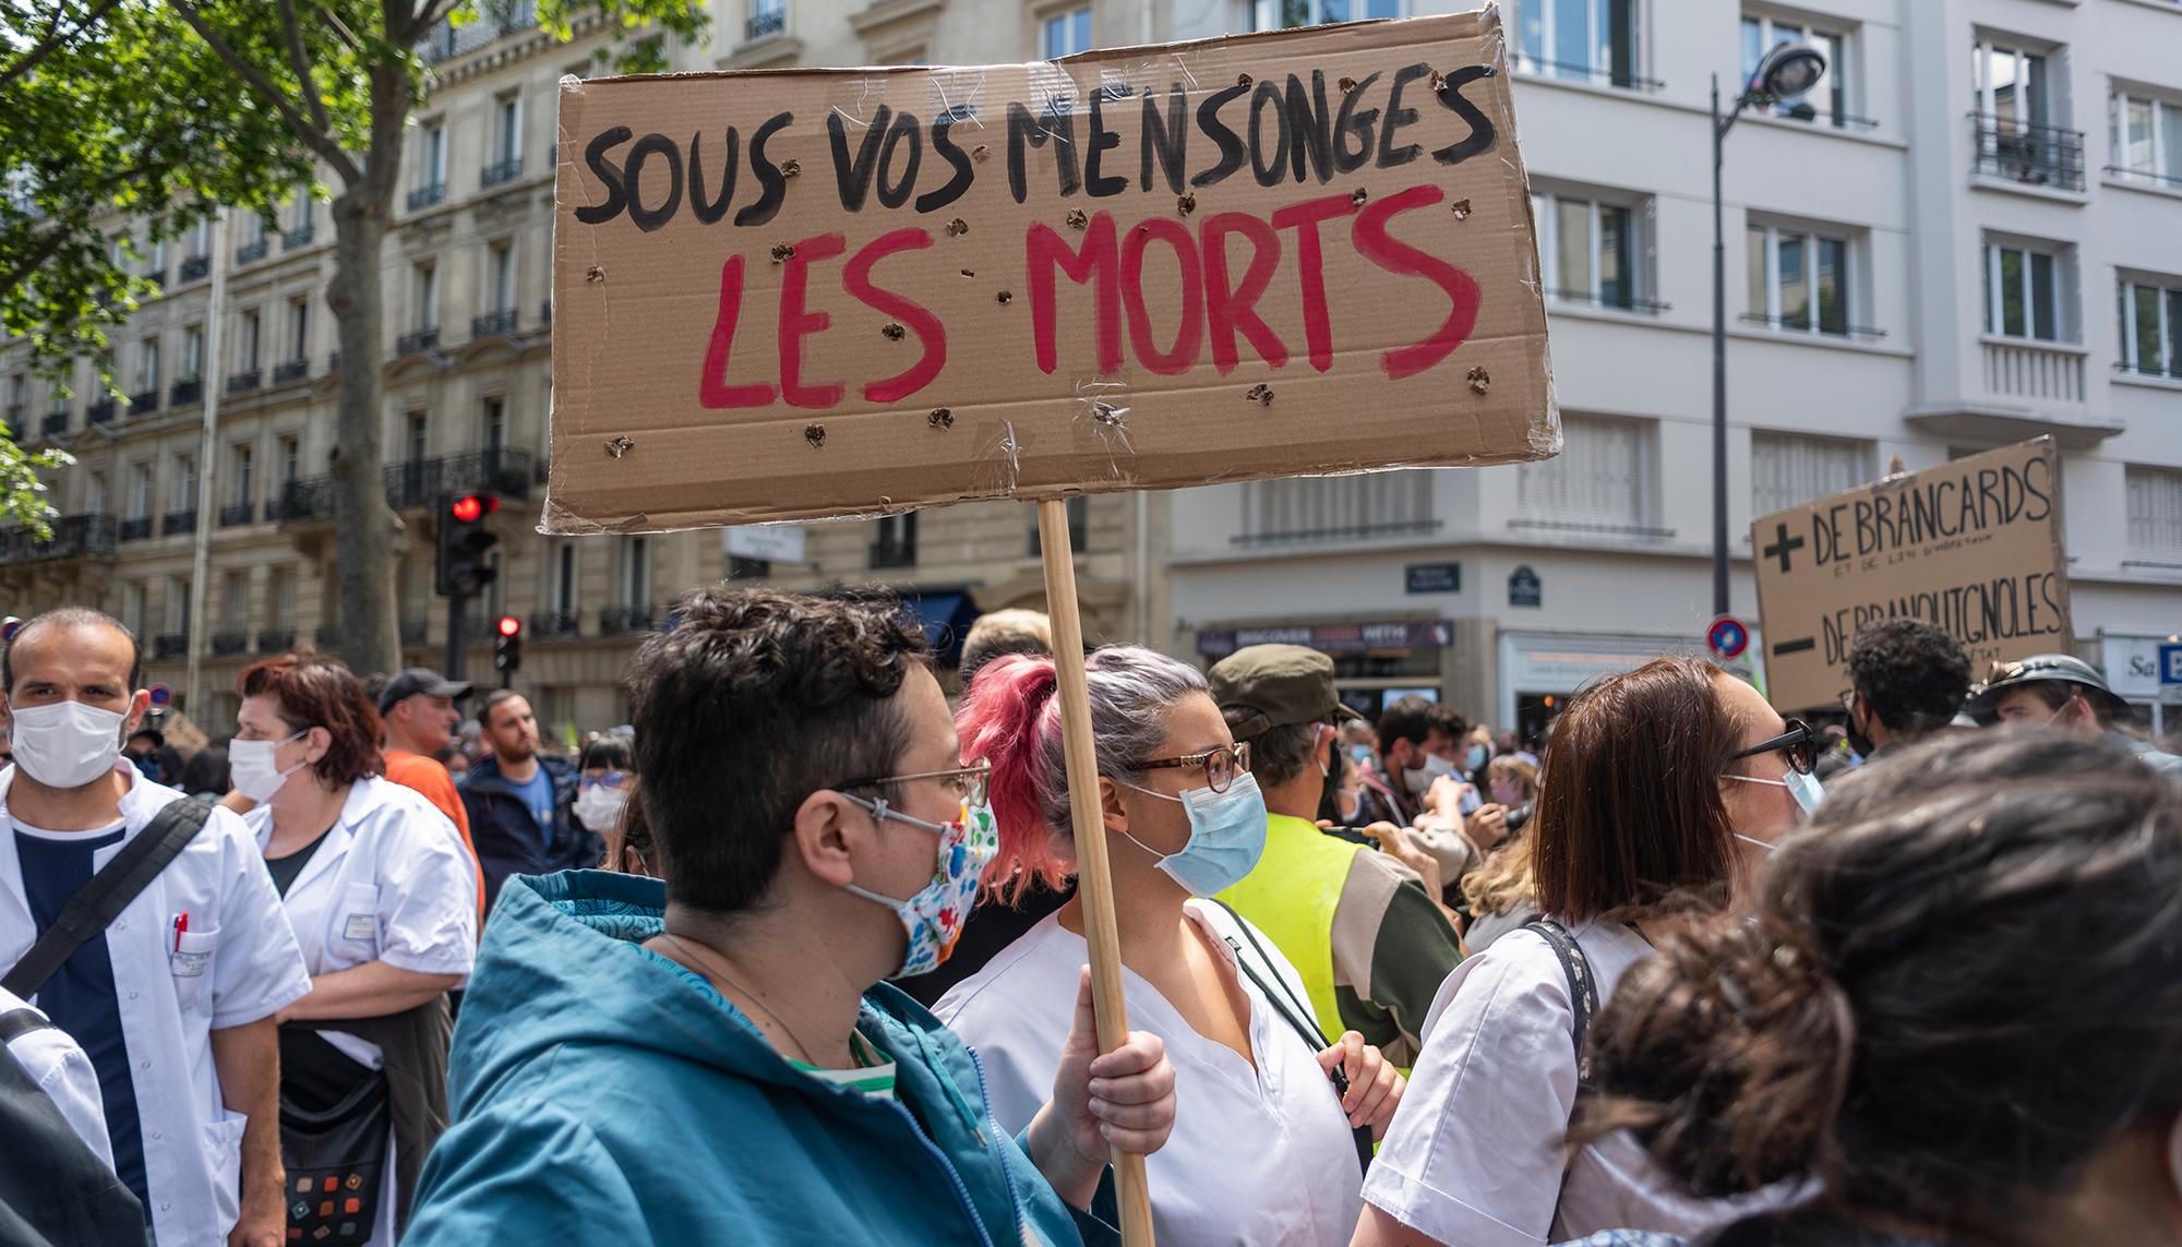
[[[447, 1125], [447, 990], [478, 944], [460, 833], [380, 776], [380, 717], [340, 661], [253, 663], [229, 743], [310, 994], [281, 1020], [281, 1155], [305, 1243], [393, 1245]], [[397, 1177], [399, 1169], [399, 1177]]]

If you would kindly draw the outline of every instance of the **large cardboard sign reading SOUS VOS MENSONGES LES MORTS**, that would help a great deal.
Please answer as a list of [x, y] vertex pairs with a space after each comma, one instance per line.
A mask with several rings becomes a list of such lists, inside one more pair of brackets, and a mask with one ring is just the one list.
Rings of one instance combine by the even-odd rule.
[[1492, 9], [559, 124], [543, 532], [1560, 449]]

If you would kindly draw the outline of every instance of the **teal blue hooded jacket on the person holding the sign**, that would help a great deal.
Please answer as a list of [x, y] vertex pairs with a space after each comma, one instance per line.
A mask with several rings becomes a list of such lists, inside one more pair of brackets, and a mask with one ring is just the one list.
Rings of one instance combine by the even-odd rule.
[[406, 1247], [1119, 1243], [1054, 1195], [921, 1005], [879, 983], [858, 1018], [899, 1103], [829, 1086], [637, 946], [663, 907], [663, 883], [596, 870], [502, 887]]

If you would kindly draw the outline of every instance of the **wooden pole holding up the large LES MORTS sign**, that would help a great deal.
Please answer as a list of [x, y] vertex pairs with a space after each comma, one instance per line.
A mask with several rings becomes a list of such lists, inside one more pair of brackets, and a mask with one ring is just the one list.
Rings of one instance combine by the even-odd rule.
[[[1122, 998], [1122, 933], [1113, 920], [1106, 820], [1100, 813], [1098, 748], [1091, 737], [1091, 689], [1084, 680], [1084, 626], [1076, 613], [1076, 552], [1069, 549], [1065, 499], [1039, 504], [1039, 547], [1045, 552], [1045, 610], [1054, 621], [1060, 746], [1069, 776], [1069, 822], [1076, 833], [1076, 892], [1084, 903], [1084, 944], [1091, 946], [1091, 1009], [1098, 1014], [1098, 1049], [1111, 1053], [1128, 1042], [1128, 1005]], [[1143, 1155], [1115, 1149], [1113, 1179], [1122, 1206], [1124, 1247], [1152, 1247], [1152, 1195], [1143, 1184]]]

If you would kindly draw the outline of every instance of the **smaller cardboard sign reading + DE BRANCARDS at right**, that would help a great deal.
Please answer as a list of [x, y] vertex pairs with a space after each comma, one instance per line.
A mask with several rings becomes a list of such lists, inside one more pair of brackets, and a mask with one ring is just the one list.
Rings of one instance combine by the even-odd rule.
[[1994, 658], [2069, 654], [2060, 451], [2034, 438], [1767, 514], [1750, 525], [1774, 706], [1833, 706], [1872, 619], [1909, 615]]

